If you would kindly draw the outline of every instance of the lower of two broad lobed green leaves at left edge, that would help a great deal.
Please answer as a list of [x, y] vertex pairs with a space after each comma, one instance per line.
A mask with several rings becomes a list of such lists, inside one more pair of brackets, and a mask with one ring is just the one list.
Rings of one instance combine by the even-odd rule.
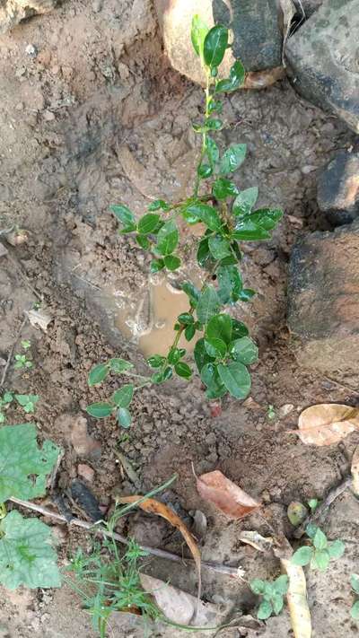
[[48, 525], [11, 511], [0, 522], [0, 536], [0, 582], [8, 590], [61, 586]]

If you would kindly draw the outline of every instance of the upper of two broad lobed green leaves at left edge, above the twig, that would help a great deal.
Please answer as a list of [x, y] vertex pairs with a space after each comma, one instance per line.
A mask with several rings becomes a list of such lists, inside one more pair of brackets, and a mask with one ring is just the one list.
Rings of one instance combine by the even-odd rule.
[[0, 428], [0, 503], [11, 496], [30, 501], [45, 494], [60, 450], [51, 441], [39, 449], [36, 435], [34, 424]]

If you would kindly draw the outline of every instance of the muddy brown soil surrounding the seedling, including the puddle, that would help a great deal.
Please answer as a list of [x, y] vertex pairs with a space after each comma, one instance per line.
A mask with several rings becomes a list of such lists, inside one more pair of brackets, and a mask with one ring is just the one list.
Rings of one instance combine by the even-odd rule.
[[[29, 44], [36, 55], [26, 53]], [[203, 558], [241, 564], [248, 579], [276, 576], [276, 561], [241, 545], [240, 530], [267, 535], [272, 526], [291, 537], [288, 503], [321, 499], [348, 473], [359, 443], [354, 433], [338, 446], [320, 449], [304, 446], [291, 433], [305, 406], [321, 401], [355, 405], [358, 395], [351, 389], [358, 380], [328, 379], [299, 368], [285, 326], [293, 241], [301, 232], [327, 228], [315, 202], [317, 171], [335, 150], [348, 148], [353, 135], [337, 119], [301, 101], [286, 81], [267, 91], [236, 93], [226, 102], [228, 127], [221, 144], [241, 141], [249, 148], [238, 184], [258, 185], [260, 204], [285, 210], [273, 240], [244, 247], [243, 275], [258, 295], [235, 313], [248, 322], [259, 345], [251, 398], [242, 404], [226, 399], [215, 416], [198, 380], [144, 389], [136, 395], [128, 434], [109, 420], [89, 418], [91, 440], [85, 441], [84, 451], [78, 440], [77, 447], [74, 444], [74, 423], [81, 424], [89, 402], [114, 388], [114, 381], [101, 389], [87, 387], [93, 363], [117, 354], [144, 368], [142, 353], [168, 338], [163, 308], [180, 308], [180, 279], [197, 276], [195, 239], [183, 232], [187, 259], [180, 278], [150, 280], [147, 258], [132, 240], [118, 237], [109, 204], [121, 200], [140, 214], [150, 199], [186, 195], [197, 155], [188, 121], [198, 116], [202, 94], [168, 66], [150, 2], [64, 3], [56, 12], [1, 36], [0, 65], [0, 228], [29, 232], [26, 243], [7, 246], [8, 255], [0, 258], [0, 357], [6, 360], [14, 342], [18, 352], [20, 338], [26, 338], [35, 363], [26, 372], [11, 366], [6, 387], [40, 395], [40, 435], [66, 452], [61, 488], [77, 475], [79, 463], [85, 463], [94, 471], [92, 489], [104, 509], [114, 494], [135, 493], [118, 462], [118, 450], [136, 470], [141, 491], [177, 472], [178, 481], [163, 498], [189, 526], [190, 512], [206, 514]], [[24, 310], [39, 299], [52, 319], [47, 332], [27, 322], [20, 335]], [[275, 407], [273, 419], [267, 416], [268, 406]], [[10, 423], [30, 420], [20, 408], [8, 416]], [[81, 425], [76, 427], [81, 430]], [[261, 499], [267, 522], [258, 515], [240, 522], [224, 520], [198, 496], [192, 462], [198, 474], [219, 468]], [[324, 575], [309, 574], [313, 635], [357, 634], [348, 613], [357, 514], [350, 494], [330, 511], [325, 530], [330, 538], [346, 541], [346, 555]], [[59, 526], [56, 531], [64, 564], [78, 544], [89, 544], [89, 538], [71, 528]], [[183, 549], [177, 532], [142, 514], [128, 517], [123, 531], [146, 545], [179, 554]], [[170, 562], [151, 559], [144, 569], [196, 591], [196, 575], [186, 564], [173, 568]], [[226, 611], [253, 613], [256, 599], [240, 581], [206, 570], [203, 580], [205, 600]], [[4, 591], [2, 596], [2, 636], [95, 635], [66, 587], [54, 592]], [[285, 612], [269, 619], [260, 635], [285, 638], [289, 628]], [[248, 632], [227, 629], [223, 635], [259, 635]], [[150, 628], [150, 633], [174, 635], [164, 627]], [[143, 628], [136, 619], [121, 616], [111, 635], [140, 636]]]

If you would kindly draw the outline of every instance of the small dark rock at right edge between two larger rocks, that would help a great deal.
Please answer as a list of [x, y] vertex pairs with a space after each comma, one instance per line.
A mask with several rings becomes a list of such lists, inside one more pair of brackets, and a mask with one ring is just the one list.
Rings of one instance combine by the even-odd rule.
[[359, 216], [359, 153], [340, 151], [328, 163], [318, 180], [317, 200], [335, 226]]

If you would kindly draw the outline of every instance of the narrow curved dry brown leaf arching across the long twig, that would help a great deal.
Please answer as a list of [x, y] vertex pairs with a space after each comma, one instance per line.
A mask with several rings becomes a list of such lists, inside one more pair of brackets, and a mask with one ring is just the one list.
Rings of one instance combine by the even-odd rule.
[[[117, 501], [118, 503], [136, 503], [136, 501], [138, 501], [141, 498], [144, 498], [144, 497], [138, 494], [136, 496], [120, 496], [120, 497], [117, 497]], [[184, 537], [193, 555], [194, 561], [196, 563], [197, 577], [198, 577], [197, 599], [199, 600], [201, 597], [201, 585], [202, 585], [201, 555], [199, 553], [199, 549], [197, 547], [197, 543], [194, 537], [192, 536], [190, 531], [187, 529], [184, 522], [180, 520], [180, 516], [178, 516], [173, 510], [171, 510], [170, 507], [167, 507], [167, 505], [165, 505], [164, 503], [160, 503], [160, 501], [156, 501], [153, 498], [147, 498], [142, 503], [138, 503], [138, 507], [140, 507], [141, 510], [147, 511], [147, 513], [149, 514], [157, 514], [157, 516], [162, 516], [162, 519], [167, 520], [169, 523], [171, 523], [171, 525], [173, 525], [173, 527], [180, 530], [180, 533]]]

